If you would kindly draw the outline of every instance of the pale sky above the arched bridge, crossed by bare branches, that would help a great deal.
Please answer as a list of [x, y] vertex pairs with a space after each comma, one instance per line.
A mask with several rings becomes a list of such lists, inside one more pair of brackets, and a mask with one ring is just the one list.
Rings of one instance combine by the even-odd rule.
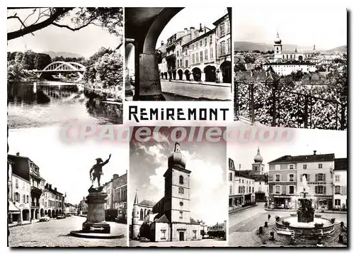
[[[8, 16], [17, 13], [21, 19], [25, 19], [32, 9], [27, 10], [9, 10]], [[33, 23], [35, 15], [28, 18], [25, 24]], [[60, 24], [70, 24], [71, 16], [64, 18]], [[7, 20], [7, 31], [16, 31], [21, 27], [16, 19]], [[90, 57], [98, 51], [99, 48], [116, 48], [119, 44], [118, 37], [111, 35], [103, 28], [89, 25], [79, 31], [70, 31], [67, 28], [58, 28], [56, 26], [47, 26], [39, 31], [35, 31], [34, 35], [27, 34], [23, 37], [8, 40], [7, 51], [25, 51], [33, 50], [36, 53], [45, 51], [69, 52], [82, 55], [86, 58]]]

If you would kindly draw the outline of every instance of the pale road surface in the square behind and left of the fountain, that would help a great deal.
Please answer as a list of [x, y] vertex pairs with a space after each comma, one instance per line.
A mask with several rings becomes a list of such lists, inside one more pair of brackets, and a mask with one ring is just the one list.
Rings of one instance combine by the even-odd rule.
[[[270, 222], [275, 221], [275, 216], [290, 216], [294, 211], [265, 211], [264, 203], [258, 203], [249, 209], [244, 209], [239, 213], [229, 215], [229, 246], [231, 247], [254, 247], [260, 245], [257, 238], [251, 233], [253, 229], [263, 226], [268, 221], [270, 214]], [[322, 218], [336, 218], [336, 221], [343, 221], [347, 225], [347, 214], [321, 214]]]

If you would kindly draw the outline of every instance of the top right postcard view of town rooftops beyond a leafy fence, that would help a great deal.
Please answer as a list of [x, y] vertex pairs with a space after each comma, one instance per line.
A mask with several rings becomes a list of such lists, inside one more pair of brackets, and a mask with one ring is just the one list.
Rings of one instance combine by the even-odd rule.
[[[346, 9], [308, 6], [304, 10], [294, 6], [295, 11], [289, 11], [277, 6], [277, 15], [269, 17], [265, 13], [272, 12], [272, 6], [263, 7], [249, 16], [244, 15], [249, 11], [235, 11], [235, 120], [346, 130]], [[298, 13], [309, 18], [298, 18]], [[283, 22], [288, 20], [296, 22]], [[319, 28], [308, 26], [316, 22], [321, 23]]]

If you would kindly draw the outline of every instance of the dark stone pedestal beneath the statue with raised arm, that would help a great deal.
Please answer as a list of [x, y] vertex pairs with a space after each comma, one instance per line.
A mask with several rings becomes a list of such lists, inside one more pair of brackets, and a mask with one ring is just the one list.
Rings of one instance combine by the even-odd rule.
[[[89, 190], [90, 192], [90, 190]], [[110, 225], [105, 222], [105, 203], [107, 193], [91, 191], [86, 197], [87, 219], [82, 223], [84, 233], [110, 233]]]

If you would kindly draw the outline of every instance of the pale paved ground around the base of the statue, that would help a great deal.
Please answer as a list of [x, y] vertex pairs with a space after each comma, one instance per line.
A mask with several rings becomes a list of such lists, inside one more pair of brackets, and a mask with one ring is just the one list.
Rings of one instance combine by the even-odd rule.
[[127, 246], [127, 225], [115, 222], [110, 223], [111, 233], [124, 233], [119, 239], [90, 239], [70, 236], [70, 231], [80, 230], [86, 218], [71, 216], [65, 219], [38, 222], [23, 226], [8, 228], [9, 247], [118, 247]]

